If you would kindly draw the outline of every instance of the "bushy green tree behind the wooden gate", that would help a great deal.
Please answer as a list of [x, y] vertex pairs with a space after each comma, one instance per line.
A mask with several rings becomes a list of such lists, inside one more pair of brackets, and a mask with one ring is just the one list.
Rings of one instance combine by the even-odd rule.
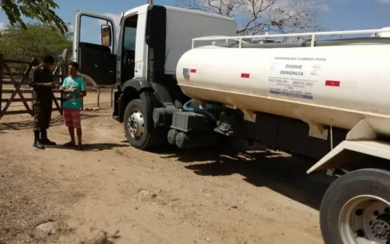
[[[65, 48], [72, 48], [73, 33], [62, 34], [59, 29], [52, 29], [43, 23], [8, 25], [0, 38], [0, 52], [14, 53], [12, 59], [24, 57], [41, 58], [44, 55], [60, 55]], [[69, 24], [68, 24], [69, 26]]]

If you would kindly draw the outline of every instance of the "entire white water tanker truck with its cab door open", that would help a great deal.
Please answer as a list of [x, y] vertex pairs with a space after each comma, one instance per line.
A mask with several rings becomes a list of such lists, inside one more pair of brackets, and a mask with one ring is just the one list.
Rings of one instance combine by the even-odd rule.
[[[104, 21], [101, 44], [80, 41], [82, 18]], [[341, 172], [321, 203], [325, 244], [389, 244], [390, 30], [235, 31], [233, 19], [175, 7], [129, 10], [118, 31], [78, 11], [73, 58], [87, 81], [116, 89], [113, 118], [133, 147], [229, 137], [310, 157], [308, 174]], [[367, 37], [345, 37], [357, 34]], [[319, 38], [331, 35], [343, 38]]]

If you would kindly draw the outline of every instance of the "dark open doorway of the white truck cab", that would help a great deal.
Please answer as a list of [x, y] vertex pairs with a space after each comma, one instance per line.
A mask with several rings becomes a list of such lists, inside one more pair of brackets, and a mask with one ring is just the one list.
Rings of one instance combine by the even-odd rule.
[[134, 78], [134, 68], [136, 59], [137, 40], [137, 20], [138, 15], [128, 17], [124, 22], [124, 33], [122, 36], [122, 67], [121, 80], [128, 81]]

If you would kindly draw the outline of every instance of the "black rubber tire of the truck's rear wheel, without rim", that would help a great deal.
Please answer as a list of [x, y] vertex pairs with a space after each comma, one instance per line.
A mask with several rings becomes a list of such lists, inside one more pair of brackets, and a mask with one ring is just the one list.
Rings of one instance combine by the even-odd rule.
[[345, 203], [360, 195], [372, 195], [390, 202], [390, 172], [375, 168], [360, 169], [331, 184], [320, 208], [320, 226], [325, 244], [347, 244], [340, 236], [339, 215]]

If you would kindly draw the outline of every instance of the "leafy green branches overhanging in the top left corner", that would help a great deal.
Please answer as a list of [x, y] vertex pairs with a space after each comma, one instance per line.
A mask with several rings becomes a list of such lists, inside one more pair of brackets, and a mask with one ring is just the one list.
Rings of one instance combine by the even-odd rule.
[[62, 34], [68, 32], [68, 25], [54, 12], [59, 6], [53, 0], [0, 0], [0, 8], [7, 15], [11, 26], [20, 24], [22, 29], [28, 25], [22, 16], [58, 28]]

